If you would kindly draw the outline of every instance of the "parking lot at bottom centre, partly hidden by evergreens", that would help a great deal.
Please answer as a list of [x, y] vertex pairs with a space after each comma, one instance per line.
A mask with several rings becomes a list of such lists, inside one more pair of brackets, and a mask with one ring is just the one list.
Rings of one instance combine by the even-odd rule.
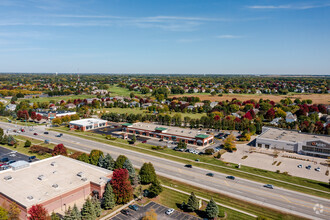
[[176, 219], [176, 220], [198, 220], [200, 218], [196, 216], [192, 216], [183, 212], [174, 211], [171, 215], [166, 215], [165, 212], [168, 207], [165, 207], [163, 205], [160, 205], [155, 202], [150, 202], [145, 206], [139, 206], [138, 211], [133, 211], [130, 209], [130, 215], [124, 215], [122, 213], [117, 214], [116, 216], [112, 217], [113, 220], [129, 220], [129, 219], [141, 219], [143, 216], [145, 216], [145, 213], [149, 211], [150, 209], [154, 209], [157, 214], [158, 220], [165, 220], [165, 219]]

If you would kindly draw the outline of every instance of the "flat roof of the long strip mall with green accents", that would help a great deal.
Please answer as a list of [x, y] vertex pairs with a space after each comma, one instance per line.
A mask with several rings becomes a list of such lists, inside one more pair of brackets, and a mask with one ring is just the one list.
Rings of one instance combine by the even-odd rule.
[[171, 127], [171, 126], [165, 126], [165, 125], [156, 125], [156, 124], [152, 124], [152, 123], [143, 123], [143, 122], [137, 122], [137, 123], [129, 125], [128, 127], [135, 128], [135, 129], [143, 129], [143, 130], [148, 130], [148, 131], [158, 130], [158, 131], [161, 131], [162, 134], [178, 135], [178, 136], [184, 136], [184, 137], [190, 137], [190, 138], [195, 138], [197, 135], [201, 135], [201, 134], [206, 135], [206, 136], [204, 136], [204, 138], [207, 138], [210, 136], [210, 135], [200, 132], [198, 130]]

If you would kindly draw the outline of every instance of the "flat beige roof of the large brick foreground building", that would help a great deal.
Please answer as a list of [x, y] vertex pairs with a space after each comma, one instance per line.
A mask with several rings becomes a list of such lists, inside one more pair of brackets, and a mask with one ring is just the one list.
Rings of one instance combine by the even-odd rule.
[[110, 170], [55, 156], [16, 171], [0, 171], [0, 193], [28, 208], [90, 182], [103, 185], [109, 180], [105, 177], [111, 174]]

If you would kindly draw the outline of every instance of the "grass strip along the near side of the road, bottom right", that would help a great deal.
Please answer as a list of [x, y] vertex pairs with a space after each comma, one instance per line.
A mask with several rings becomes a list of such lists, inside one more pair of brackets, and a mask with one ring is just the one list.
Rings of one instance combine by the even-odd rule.
[[[172, 188], [185, 191], [187, 193], [194, 192], [196, 196], [200, 196], [203, 198], [213, 198], [215, 202], [219, 202], [221, 204], [257, 215], [257, 216], [265, 216], [271, 219], [286, 219], [286, 220], [295, 220], [295, 219], [303, 219], [301, 217], [297, 217], [294, 215], [290, 215], [287, 213], [281, 213], [277, 210], [269, 209], [266, 207], [258, 206], [252, 203], [248, 203], [246, 201], [242, 202], [238, 199], [233, 199], [231, 197], [214, 193], [212, 191], [200, 189], [198, 187], [194, 187], [182, 182], [178, 182], [176, 180], [171, 180], [162, 176], [158, 176], [158, 179], [161, 181], [163, 185], [170, 186]], [[159, 195], [159, 202], [163, 205], [169, 206], [171, 208], [177, 209], [177, 204], [181, 204], [182, 202], [186, 202], [188, 200], [188, 195], [183, 193], [167, 189], [163, 187], [164, 191]], [[206, 201], [208, 202], [208, 201]], [[227, 219], [255, 219], [249, 215], [243, 214], [241, 212], [237, 212], [232, 209], [228, 209], [225, 207], [221, 207], [227, 213]]]

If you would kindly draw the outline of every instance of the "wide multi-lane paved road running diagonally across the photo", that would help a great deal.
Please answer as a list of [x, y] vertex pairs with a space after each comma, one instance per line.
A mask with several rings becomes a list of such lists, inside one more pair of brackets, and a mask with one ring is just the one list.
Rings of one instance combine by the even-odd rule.
[[[2, 128], [14, 128], [14, 125], [8, 123], [0, 122], [0, 125]], [[90, 152], [91, 149], [100, 149], [114, 157], [124, 154], [137, 167], [140, 167], [144, 162], [153, 163], [159, 175], [309, 219], [329, 219], [330, 216], [330, 201], [327, 199], [282, 188], [267, 189], [261, 183], [242, 178], [236, 178], [234, 181], [227, 180], [225, 174], [217, 172], [213, 172], [214, 177], [208, 177], [205, 174], [210, 171], [206, 169], [185, 168], [182, 163], [67, 134], [64, 134], [61, 138], [55, 137], [59, 132], [50, 131], [48, 135], [44, 135], [44, 129], [44, 126], [38, 126], [36, 131], [28, 131], [22, 135], [41, 140], [48, 139], [56, 144], [63, 143], [67, 147], [85, 152]], [[33, 136], [34, 132], [39, 135]], [[316, 208], [316, 211], [314, 211], [314, 208]]]

